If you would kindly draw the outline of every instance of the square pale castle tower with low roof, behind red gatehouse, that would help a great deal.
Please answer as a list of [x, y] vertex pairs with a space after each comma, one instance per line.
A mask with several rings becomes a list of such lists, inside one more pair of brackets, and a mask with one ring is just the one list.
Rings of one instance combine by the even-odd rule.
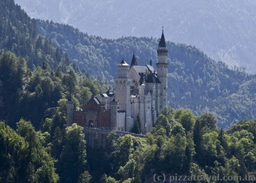
[[115, 100], [117, 102], [117, 110], [125, 111], [125, 131], [130, 130], [131, 119], [131, 102], [130, 102], [130, 85], [132, 79], [129, 78], [128, 73], [130, 65], [122, 60], [117, 65], [118, 77], [115, 78]]

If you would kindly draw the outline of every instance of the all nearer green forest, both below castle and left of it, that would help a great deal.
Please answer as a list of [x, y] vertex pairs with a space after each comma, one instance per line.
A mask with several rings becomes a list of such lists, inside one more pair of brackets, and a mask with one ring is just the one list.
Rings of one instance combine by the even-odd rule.
[[112, 132], [106, 149], [91, 149], [82, 127], [66, 127], [66, 103], [69, 98], [76, 106], [86, 103], [108, 85], [82, 77], [72, 67], [66, 73], [45, 66], [30, 71], [26, 60], [11, 52], [0, 56], [0, 71], [5, 120], [0, 122], [2, 182], [137, 183], [153, 181], [155, 173], [255, 175], [255, 120], [223, 131], [210, 113], [196, 117], [188, 109], [166, 107], [144, 138], [118, 138]]

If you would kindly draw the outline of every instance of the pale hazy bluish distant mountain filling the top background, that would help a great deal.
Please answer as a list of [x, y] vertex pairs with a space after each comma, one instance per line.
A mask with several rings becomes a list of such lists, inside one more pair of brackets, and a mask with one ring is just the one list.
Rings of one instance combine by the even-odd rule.
[[256, 3], [246, 1], [17, 0], [34, 18], [106, 38], [158, 37], [195, 45], [215, 60], [256, 73]]

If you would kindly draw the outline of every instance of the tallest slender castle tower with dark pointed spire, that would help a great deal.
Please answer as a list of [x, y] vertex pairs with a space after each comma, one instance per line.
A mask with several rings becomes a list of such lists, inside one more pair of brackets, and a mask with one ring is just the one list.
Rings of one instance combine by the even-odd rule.
[[167, 74], [168, 74], [168, 62], [167, 62], [168, 50], [166, 49], [166, 43], [164, 39], [164, 34], [162, 31], [162, 36], [158, 44], [157, 56], [157, 77], [159, 78], [160, 84], [160, 110], [163, 106], [167, 105]]

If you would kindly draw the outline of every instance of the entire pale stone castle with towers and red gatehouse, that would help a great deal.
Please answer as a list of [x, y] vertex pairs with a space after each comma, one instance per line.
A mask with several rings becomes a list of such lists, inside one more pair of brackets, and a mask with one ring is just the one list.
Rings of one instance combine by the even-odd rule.
[[93, 96], [86, 106], [74, 110], [74, 103], [67, 104], [67, 125], [131, 131], [137, 116], [141, 131], [150, 132], [159, 111], [167, 104], [168, 62], [164, 34], [157, 50], [157, 69], [148, 65], [137, 65], [133, 55], [131, 65], [122, 60], [117, 65], [114, 93]]

